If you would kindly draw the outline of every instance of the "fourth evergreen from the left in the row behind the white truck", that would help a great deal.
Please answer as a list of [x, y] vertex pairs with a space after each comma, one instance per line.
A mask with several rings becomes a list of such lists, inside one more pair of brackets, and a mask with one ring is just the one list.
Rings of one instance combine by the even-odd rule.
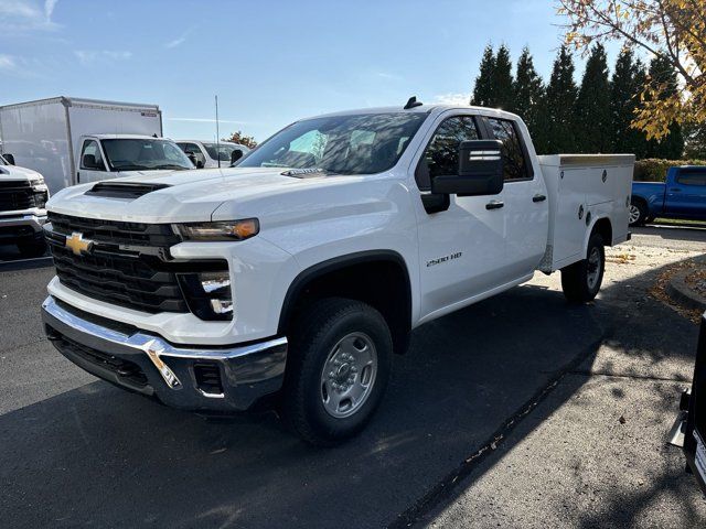
[[566, 46], [561, 46], [546, 91], [547, 153], [575, 150], [573, 109], [577, 96], [574, 82], [574, 60]]

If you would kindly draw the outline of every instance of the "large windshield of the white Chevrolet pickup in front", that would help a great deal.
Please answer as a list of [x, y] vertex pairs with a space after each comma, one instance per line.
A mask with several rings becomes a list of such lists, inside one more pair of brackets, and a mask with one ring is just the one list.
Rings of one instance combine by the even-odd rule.
[[252, 151], [237, 166], [381, 173], [397, 163], [426, 118], [420, 112], [395, 112], [298, 121]]

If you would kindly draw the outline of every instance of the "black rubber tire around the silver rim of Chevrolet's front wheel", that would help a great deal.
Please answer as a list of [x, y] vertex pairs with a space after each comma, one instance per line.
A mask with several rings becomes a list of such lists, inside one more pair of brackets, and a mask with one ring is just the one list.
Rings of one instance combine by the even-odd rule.
[[[370, 338], [373, 345], [372, 350], [377, 359], [375, 375], [368, 371], [370, 390], [365, 398], [360, 399], [360, 404], [355, 404], [356, 408], [350, 399], [351, 414], [334, 417], [327, 410], [330, 404], [324, 403], [324, 400], [330, 402], [327, 387], [331, 384], [322, 380], [325, 376], [324, 366], [331, 365], [327, 361], [331, 355], [340, 354], [335, 352], [341, 350], [338, 347], [341, 341], [356, 339], [351, 336], [359, 334]], [[392, 370], [392, 355], [389, 328], [375, 309], [360, 301], [340, 298], [314, 302], [298, 317], [291, 335], [281, 402], [282, 418], [301, 439], [318, 446], [332, 446], [355, 435], [368, 422], [385, 393]], [[347, 376], [345, 371], [344, 377]], [[362, 381], [363, 371], [353, 374], [353, 378], [356, 382], [359, 379]], [[343, 384], [349, 381], [346, 379]], [[347, 395], [347, 391], [338, 393]]]

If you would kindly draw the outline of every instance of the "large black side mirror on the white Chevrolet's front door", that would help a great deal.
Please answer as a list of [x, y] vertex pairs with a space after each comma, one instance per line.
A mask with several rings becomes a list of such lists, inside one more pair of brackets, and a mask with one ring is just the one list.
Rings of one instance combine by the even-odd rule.
[[431, 193], [461, 196], [496, 195], [503, 191], [502, 141], [471, 140], [459, 145], [458, 175], [439, 175]]

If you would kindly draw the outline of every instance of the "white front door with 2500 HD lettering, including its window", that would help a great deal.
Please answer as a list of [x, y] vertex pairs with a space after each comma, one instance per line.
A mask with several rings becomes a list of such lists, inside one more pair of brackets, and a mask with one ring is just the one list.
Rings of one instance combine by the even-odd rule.
[[414, 165], [420, 192], [415, 202], [422, 319], [507, 280], [504, 192], [494, 196], [430, 194], [434, 177], [458, 173], [461, 141], [481, 139], [478, 118], [441, 115], [432, 130]]

